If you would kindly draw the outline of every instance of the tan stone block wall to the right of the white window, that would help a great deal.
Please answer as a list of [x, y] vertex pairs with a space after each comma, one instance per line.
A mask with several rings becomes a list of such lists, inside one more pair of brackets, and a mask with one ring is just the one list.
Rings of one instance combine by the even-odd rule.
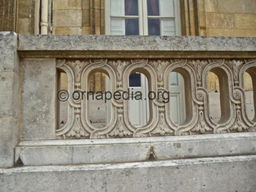
[[203, 36], [256, 37], [255, 0], [198, 0]]

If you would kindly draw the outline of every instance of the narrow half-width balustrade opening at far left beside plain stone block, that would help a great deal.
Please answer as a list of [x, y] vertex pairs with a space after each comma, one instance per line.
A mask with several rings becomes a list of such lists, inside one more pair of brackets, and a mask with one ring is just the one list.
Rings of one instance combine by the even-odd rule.
[[61, 69], [57, 71], [57, 126], [56, 129], [61, 129], [64, 125], [67, 124], [68, 121], [68, 75]]

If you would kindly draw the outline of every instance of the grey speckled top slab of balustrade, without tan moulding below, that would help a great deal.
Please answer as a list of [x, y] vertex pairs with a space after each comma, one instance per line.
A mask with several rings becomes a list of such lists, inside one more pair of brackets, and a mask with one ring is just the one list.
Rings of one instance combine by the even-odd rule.
[[19, 35], [24, 50], [256, 51], [256, 38], [194, 36]]

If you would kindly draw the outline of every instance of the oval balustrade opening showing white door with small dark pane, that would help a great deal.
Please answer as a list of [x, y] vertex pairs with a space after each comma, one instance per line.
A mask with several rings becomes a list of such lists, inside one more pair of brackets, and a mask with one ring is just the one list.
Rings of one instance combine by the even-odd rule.
[[150, 74], [143, 69], [136, 69], [130, 73], [129, 96], [127, 93], [124, 94], [124, 99], [129, 97], [129, 118], [135, 127], [147, 125], [152, 115], [152, 102], [148, 98], [150, 85]]

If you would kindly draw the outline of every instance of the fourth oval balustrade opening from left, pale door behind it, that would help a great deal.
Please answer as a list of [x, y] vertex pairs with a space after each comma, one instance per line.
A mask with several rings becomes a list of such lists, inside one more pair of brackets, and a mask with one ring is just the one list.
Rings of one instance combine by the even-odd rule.
[[182, 125], [193, 118], [192, 88], [189, 73], [183, 68], [176, 68], [169, 73], [169, 109], [170, 118]]

